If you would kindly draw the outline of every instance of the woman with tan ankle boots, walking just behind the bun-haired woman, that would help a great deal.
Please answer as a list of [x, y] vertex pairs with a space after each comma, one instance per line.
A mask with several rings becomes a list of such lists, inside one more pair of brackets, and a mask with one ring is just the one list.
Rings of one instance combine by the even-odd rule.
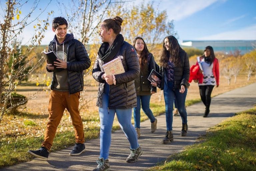
[[151, 132], [157, 128], [157, 119], [154, 117], [149, 102], [151, 95], [156, 93], [156, 87], [151, 85], [148, 76], [152, 69], [156, 70], [155, 59], [152, 53], [148, 51], [147, 45], [142, 37], [136, 37], [133, 41], [133, 47], [136, 50], [139, 64], [140, 76], [135, 79], [135, 89], [137, 94], [137, 106], [133, 108], [134, 127], [137, 137], [140, 137], [140, 107], [151, 122]]

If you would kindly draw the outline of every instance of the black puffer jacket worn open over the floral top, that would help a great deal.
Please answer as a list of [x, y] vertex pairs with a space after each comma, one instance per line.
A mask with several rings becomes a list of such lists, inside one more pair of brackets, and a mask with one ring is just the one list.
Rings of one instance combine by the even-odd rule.
[[[174, 66], [174, 88], [180, 89], [181, 85], [184, 85], [185, 88], [188, 88], [189, 75], [190, 75], [190, 66], [188, 60], [188, 54], [184, 50], [180, 50], [179, 57], [181, 58], [181, 63]], [[161, 67], [160, 73], [162, 78], [165, 75], [164, 67]], [[160, 89], [164, 89], [164, 79], [161, 80]]]

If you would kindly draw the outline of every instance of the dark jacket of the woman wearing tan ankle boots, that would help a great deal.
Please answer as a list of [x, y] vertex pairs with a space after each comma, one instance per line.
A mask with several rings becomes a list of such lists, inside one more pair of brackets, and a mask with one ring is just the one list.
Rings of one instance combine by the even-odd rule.
[[147, 65], [140, 68], [140, 76], [135, 79], [137, 96], [151, 95], [151, 91], [156, 92], [156, 87], [151, 85], [148, 76], [152, 69], [156, 70], [155, 59], [152, 53], [147, 56]]

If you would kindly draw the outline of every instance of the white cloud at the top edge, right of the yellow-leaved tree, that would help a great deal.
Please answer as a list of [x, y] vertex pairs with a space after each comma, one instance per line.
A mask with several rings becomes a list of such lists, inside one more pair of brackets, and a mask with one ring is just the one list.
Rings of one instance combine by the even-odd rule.
[[159, 9], [166, 10], [167, 15], [173, 20], [182, 20], [217, 1], [223, 0], [163, 0]]

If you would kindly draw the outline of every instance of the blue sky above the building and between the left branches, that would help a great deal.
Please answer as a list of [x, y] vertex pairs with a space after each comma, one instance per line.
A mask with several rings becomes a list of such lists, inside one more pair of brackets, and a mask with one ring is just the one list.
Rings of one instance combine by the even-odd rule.
[[[69, 0], [63, 1], [69, 2]], [[4, 6], [2, 2], [1, 5]], [[25, 15], [25, 11], [31, 9], [32, 2], [34, 1], [28, 1], [22, 9], [22, 14]], [[39, 5], [45, 7], [46, 2], [49, 2], [49, 0], [40, 1]], [[145, 0], [145, 2], [149, 2], [149, 0]], [[140, 3], [143, 3], [143, 1], [136, 0], [129, 4], [138, 5]], [[256, 0], [154, 1], [155, 6], [158, 3], [159, 10], [166, 10], [169, 20], [174, 20], [179, 42], [183, 40], [256, 40]], [[46, 13], [50, 10], [54, 11], [51, 17], [64, 16], [58, 13], [58, 7], [56, 6], [57, 3], [53, 0], [40, 18], [46, 16]], [[40, 12], [38, 10], [37, 13]], [[25, 29], [23, 42], [27, 42], [33, 31], [33, 25]], [[53, 36], [54, 32], [49, 27], [42, 44], [48, 44]]]

